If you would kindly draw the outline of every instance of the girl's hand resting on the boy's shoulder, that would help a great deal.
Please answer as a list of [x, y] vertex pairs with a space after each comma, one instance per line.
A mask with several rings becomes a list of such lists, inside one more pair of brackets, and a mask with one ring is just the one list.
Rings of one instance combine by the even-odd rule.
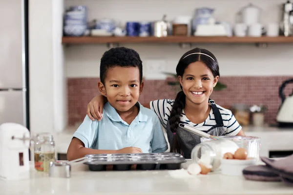
[[99, 95], [92, 98], [92, 100], [87, 104], [86, 114], [87, 116], [95, 121], [102, 120], [104, 108], [104, 96]]

